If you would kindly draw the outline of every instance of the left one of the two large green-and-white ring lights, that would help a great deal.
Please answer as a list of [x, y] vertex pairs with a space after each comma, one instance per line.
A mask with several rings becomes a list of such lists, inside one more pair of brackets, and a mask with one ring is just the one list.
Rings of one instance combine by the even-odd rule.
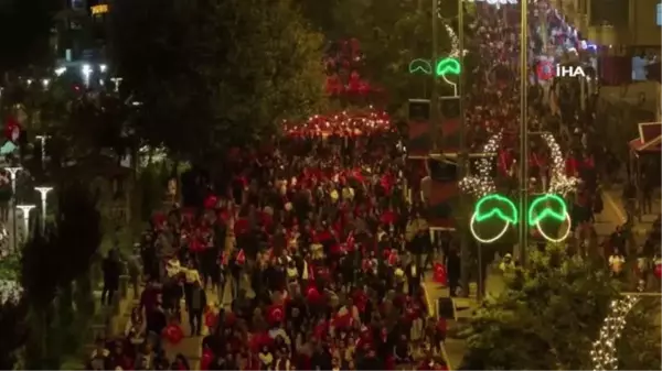
[[[487, 206], [492, 204], [491, 206]], [[500, 207], [494, 207], [493, 204], [502, 205], [503, 209]], [[489, 209], [483, 210], [485, 207]], [[480, 236], [480, 232], [477, 230], [477, 227], [481, 222], [485, 222], [488, 220], [499, 219], [503, 222], [503, 228], [495, 234], [489, 238]], [[482, 243], [492, 243], [499, 240], [505, 234], [509, 227], [517, 223], [517, 208], [515, 204], [513, 204], [509, 198], [498, 195], [491, 194], [482, 197], [476, 203], [473, 208], [473, 215], [471, 216], [471, 220], [469, 222], [469, 228], [471, 229], [471, 234], [476, 240]]]

